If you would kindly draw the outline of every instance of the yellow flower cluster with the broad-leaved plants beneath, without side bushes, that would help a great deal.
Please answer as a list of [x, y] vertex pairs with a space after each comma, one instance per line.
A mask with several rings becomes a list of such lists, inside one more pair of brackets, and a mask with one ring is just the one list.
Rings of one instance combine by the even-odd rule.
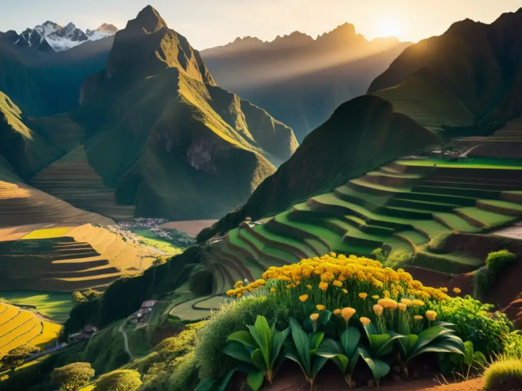
[[[410, 360], [423, 353], [464, 355], [454, 325], [438, 320], [430, 305], [449, 300], [447, 289], [425, 287], [404, 270], [383, 268], [378, 261], [330, 253], [270, 267], [263, 279], [247, 285], [238, 282], [227, 295], [240, 298], [247, 293], [266, 296], [293, 315], [282, 332], [258, 317], [256, 326], [247, 326], [249, 331], [230, 335], [224, 352], [253, 367], [249, 375], [253, 389], [262, 385], [263, 378], [271, 382], [276, 364], [284, 359], [297, 362], [311, 385], [326, 361], [332, 360], [352, 387], [358, 362], [370, 367], [378, 384], [397, 357], [400, 374], [407, 376]], [[256, 329], [262, 324], [263, 333]], [[265, 342], [261, 334], [267, 336]], [[274, 355], [269, 346], [276, 338]], [[262, 353], [264, 361], [259, 359]]]

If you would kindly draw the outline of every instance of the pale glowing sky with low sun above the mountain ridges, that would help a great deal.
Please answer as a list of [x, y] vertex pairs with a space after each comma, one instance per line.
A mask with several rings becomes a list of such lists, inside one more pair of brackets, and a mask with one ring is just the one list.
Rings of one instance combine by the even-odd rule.
[[455, 21], [491, 23], [522, 6], [520, 0], [0, 0], [0, 31], [20, 32], [46, 20], [72, 21], [83, 30], [104, 22], [124, 28], [148, 4], [199, 50], [247, 35], [273, 40], [297, 30], [315, 38], [345, 22], [367, 39], [395, 35], [417, 42]]

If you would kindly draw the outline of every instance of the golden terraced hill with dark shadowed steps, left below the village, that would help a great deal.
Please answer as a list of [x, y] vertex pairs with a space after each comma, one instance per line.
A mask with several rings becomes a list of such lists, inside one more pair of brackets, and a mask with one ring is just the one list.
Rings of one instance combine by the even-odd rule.
[[50, 225], [18, 239], [0, 240], [0, 258], [2, 290], [53, 292], [103, 290], [122, 274], [139, 273], [154, 260], [146, 248], [91, 224]]

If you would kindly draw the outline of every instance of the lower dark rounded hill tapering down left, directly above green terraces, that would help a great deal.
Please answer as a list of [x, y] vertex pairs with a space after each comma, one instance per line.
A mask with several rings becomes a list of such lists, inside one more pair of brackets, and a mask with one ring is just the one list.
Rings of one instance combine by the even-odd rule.
[[436, 142], [434, 133], [394, 112], [389, 102], [369, 95], [352, 99], [310, 133], [240, 209], [201, 231], [198, 241], [238, 226], [245, 217], [258, 219], [287, 209], [311, 194], [333, 189], [396, 156]]

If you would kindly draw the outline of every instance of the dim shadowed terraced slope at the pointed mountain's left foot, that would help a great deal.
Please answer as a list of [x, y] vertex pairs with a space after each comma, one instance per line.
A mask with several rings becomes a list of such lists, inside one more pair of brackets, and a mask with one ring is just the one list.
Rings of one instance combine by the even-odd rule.
[[114, 189], [89, 165], [83, 145], [45, 167], [31, 180], [31, 185], [70, 204], [115, 219], [134, 217], [134, 205], [118, 205]]

